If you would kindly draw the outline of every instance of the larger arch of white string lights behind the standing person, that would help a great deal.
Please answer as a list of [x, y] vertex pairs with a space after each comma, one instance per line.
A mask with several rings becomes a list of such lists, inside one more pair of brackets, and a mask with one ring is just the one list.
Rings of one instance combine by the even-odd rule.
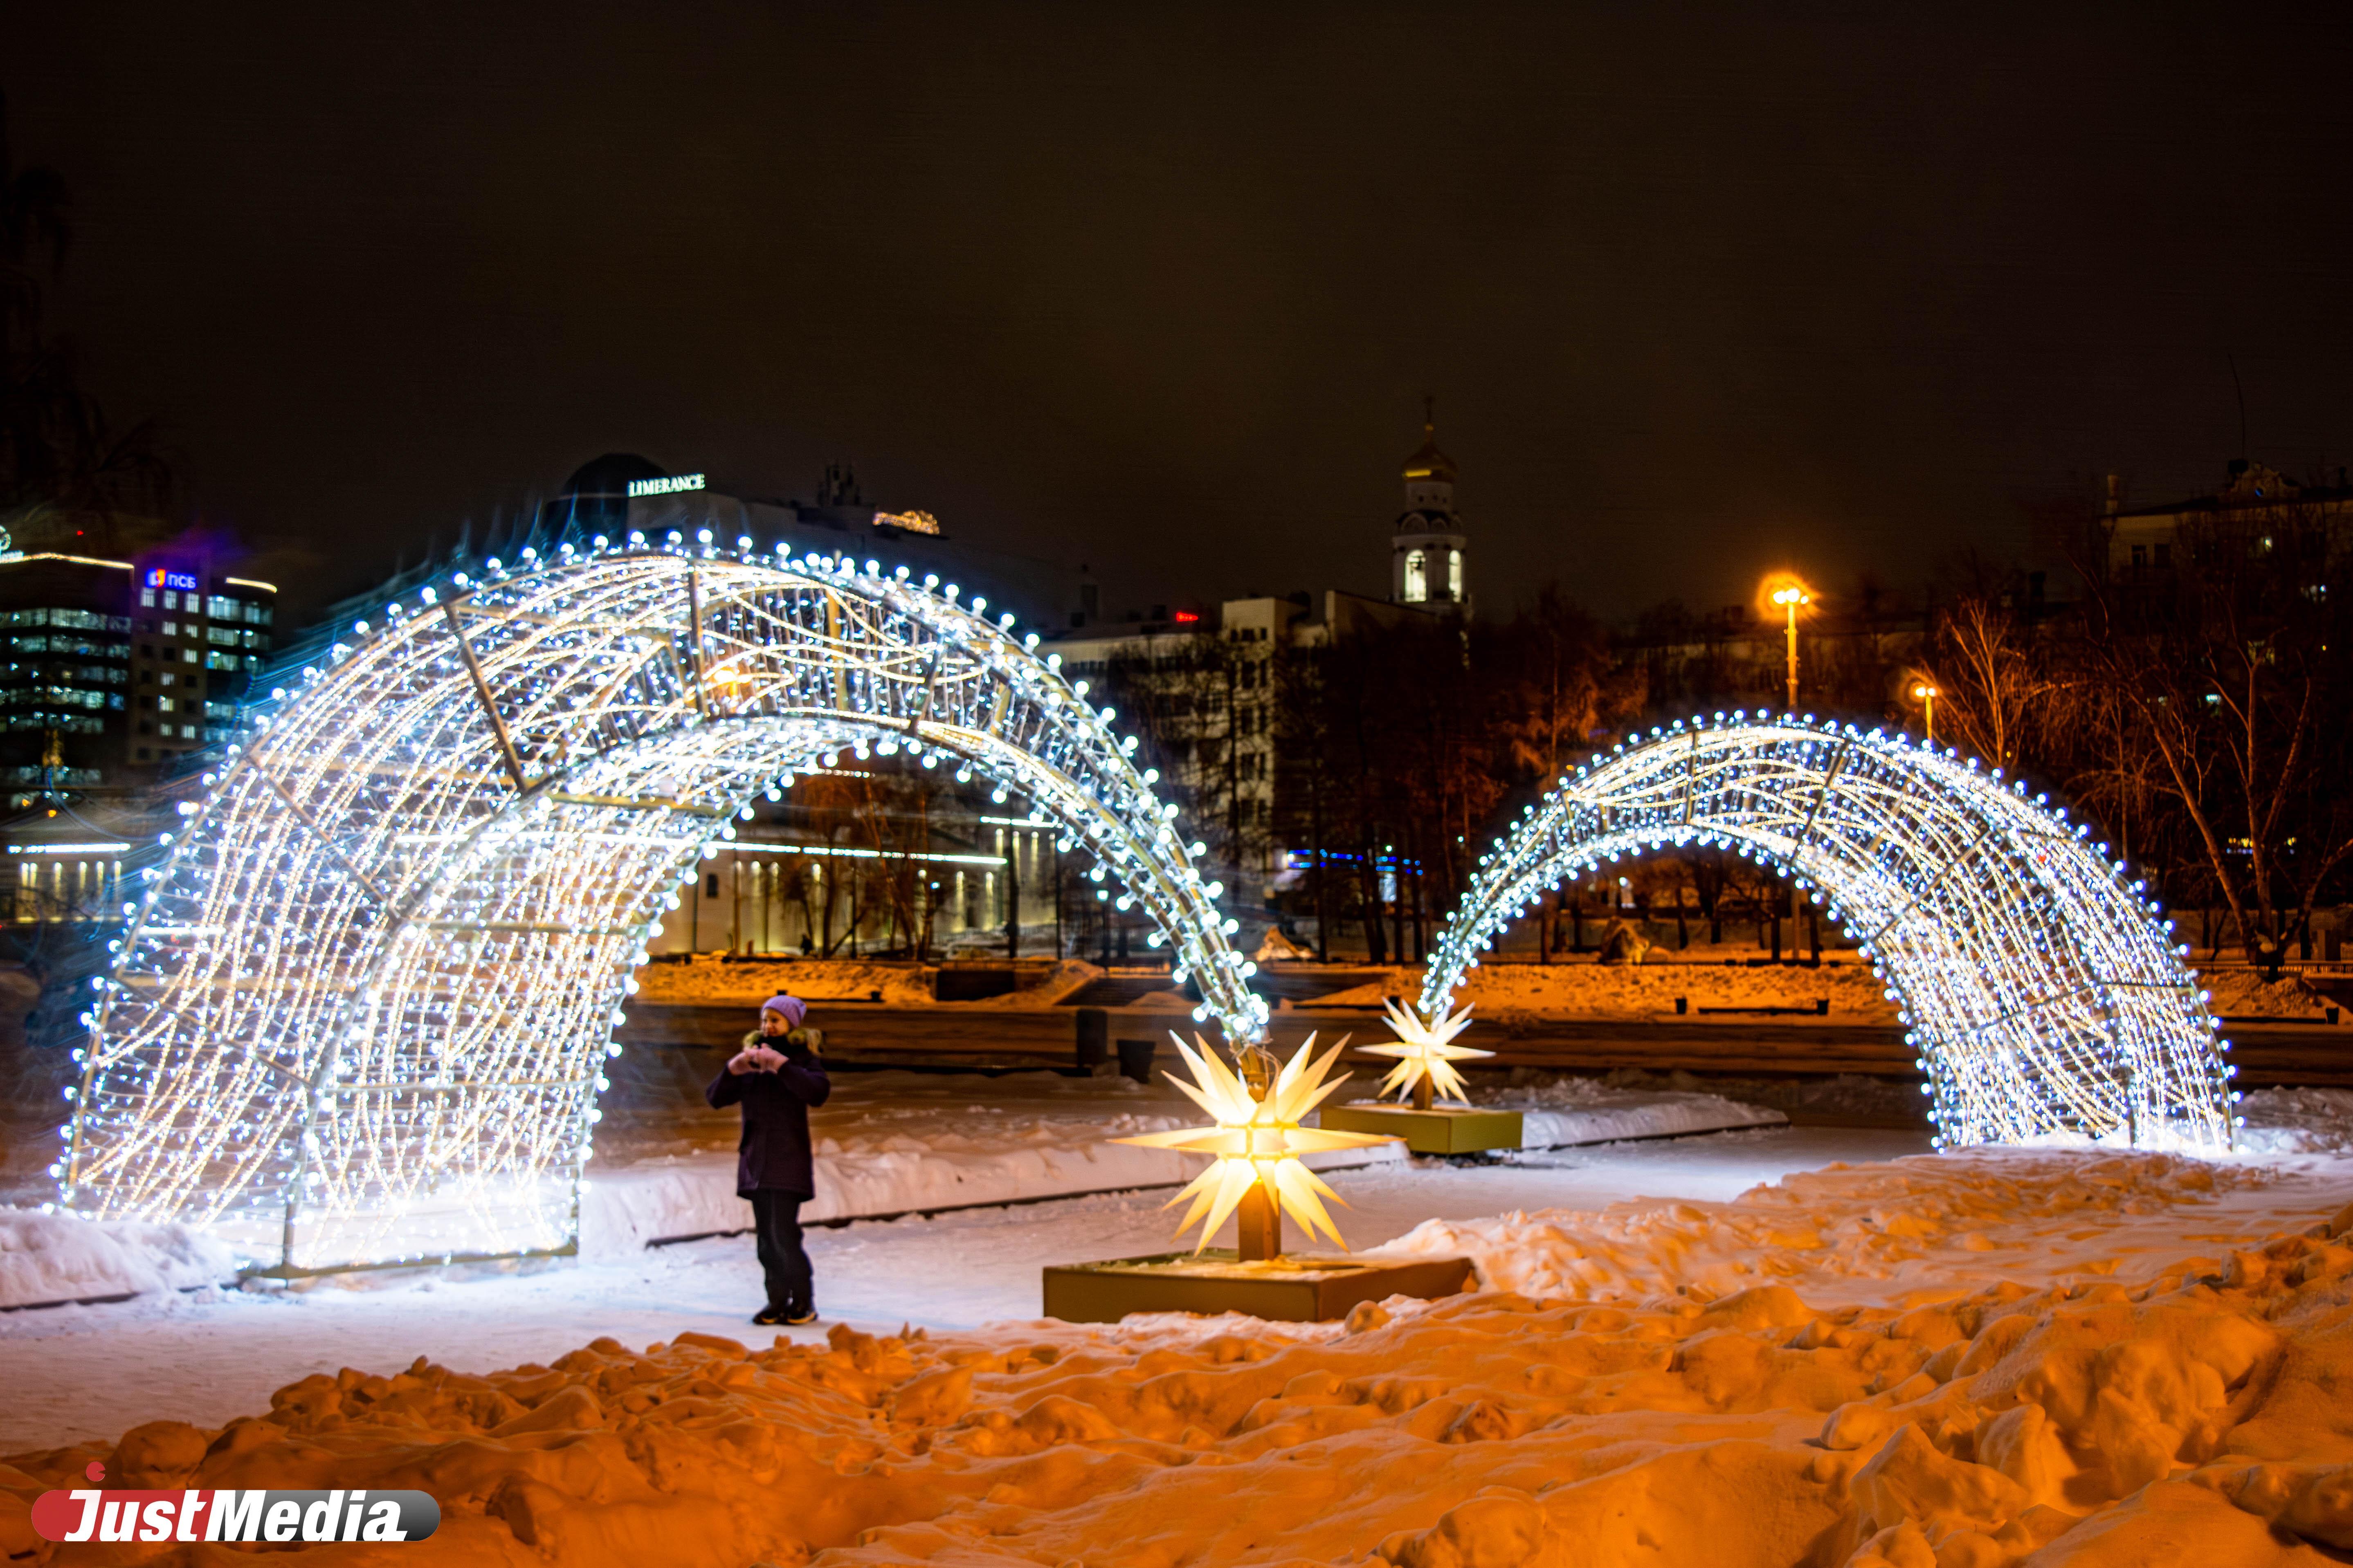
[[708, 538], [454, 574], [259, 715], [125, 905], [66, 1208], [294, 1272], [565, 1251], [664, 907], [758, 790], [852, 750], [1026, 795], [1174, 943], [1198, 1018], [1266, 1032], [1174, 806], [1035, 635]]

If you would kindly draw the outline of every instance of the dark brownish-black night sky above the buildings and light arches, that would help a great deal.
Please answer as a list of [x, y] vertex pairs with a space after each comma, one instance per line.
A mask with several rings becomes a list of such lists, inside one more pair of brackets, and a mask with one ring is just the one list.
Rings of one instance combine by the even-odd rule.
[[[1920, 583], [2021, 498], [2353, 461], [2353, 7], [9, 5], [56, 310], [362, 585], [633, 449], [826, 461], [1106, 609]], [[311, 592], [301, 592], [301, 590]]]

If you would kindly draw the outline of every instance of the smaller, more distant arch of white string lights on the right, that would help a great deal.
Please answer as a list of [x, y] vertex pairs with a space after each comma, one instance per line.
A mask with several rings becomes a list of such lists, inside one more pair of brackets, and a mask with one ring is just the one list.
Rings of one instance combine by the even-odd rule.
[[1555, 884], [1647, 849], [1722, 846], [1821, 889], [1859, 938], [1920, 1053], [1939, 1145], [2231, 1145], [2228, 1044], [2172, 922], [2106, 844], [1906, 736], [1715, 717], [1619, 745], [1527, 809], [1438, 936], [1424, 1018]]

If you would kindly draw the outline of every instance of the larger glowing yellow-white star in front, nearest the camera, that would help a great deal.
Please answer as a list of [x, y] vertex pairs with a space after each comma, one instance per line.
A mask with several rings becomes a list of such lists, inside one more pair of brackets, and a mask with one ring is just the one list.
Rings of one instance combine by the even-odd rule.
[[[1176, 1039], [1169, 1034], [1169, 1039]], [[1195, 1105], [1200, 1105], [1217, 1126], [1184, 1126], [1172, 1133], [1144, 1133], [1139, 1138], [1113, 1138], [1113, 1143], [1134, 1143], [1146, 1150], [1179, 1150], [1184, 1154], [1214, 1154], [1217, 1161], [1193, 1178], [1193, 1185], [1172, 1197], [1165, 1208], [1174, 1208], [1186, 1199], [1193, 1201], [1186, 1208], [1184, 1220], [1176, 1225], [1176, 1234], [1193, 1229], [1195, 1220], [1205, 1220], [1200, 1227], [1200, 1241], [1193, 1251], [1209, 1246], [1209, 1237], [1219, 1225], [1226, 1222], [1252, 1187], [1264, 1187], [1282, 1213], [1292, 1215], [1304, 1232], [1313, 1239], [1320, 1229], [1332, 1237], [1332, 1244], [1341, 1251], [1348, 1248], [1341, 1241], [1339, 1227], [1332, 1225], [1332, 1215], [1325, 1211], [1322, 1199], [1346, 1206], [1348, 1199], [1332, 1192], [1313, 1171], [1299, 1164], [1301, 1154], [1320, 1154], [1325, 1150], [1362, 1150], [1374, 1143], [1395, 1143], [1379, 1133], [1327, 1133], [1320, 1126], [1299, 1126], [1299, 1119], [1315, 1110], [1325, 1095], [1348, 1081], [1348, 1074], [1339, 1074], [1325, 1084], [1325, 1072], [1339, 1060], [1339, 1053], [1348, 1048], [1341, 1039], [1337, 1046], [1325, 1051], [1320, 1058], [1308, 1060], [1315, 1051], [1315, 1037], [1308, 1034], [1306, 1044], [1292, 1053], [1292, 1060], [1275, 1074], [1268, 1084], [1266, 1098], [1252, 1098], [1249, 1084], [1245, 1084], [1226, 1063], [1217, 1058], [1217, 1051], [1207, 1041], [1195, 1037], [1200, 1051], [1193, 1051], [1181, 1039], [1176, 1039], [1176, 1053], [1184, 1056], [1186, 1067], [1193, 1070], [1193, 1081], [1186, 1084], [1174, 1072], [1162, 1074], [1169, 1084], [1181, 1088]]]

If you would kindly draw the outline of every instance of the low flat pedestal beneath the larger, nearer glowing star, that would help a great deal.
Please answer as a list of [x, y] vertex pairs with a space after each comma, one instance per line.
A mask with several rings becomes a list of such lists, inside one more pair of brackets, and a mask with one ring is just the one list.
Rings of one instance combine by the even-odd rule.
[[1045, 1272], [1045, 1314], [1066, 1324], [1118, 1324], [1129, 1312], [1247, 1312], [1278, 1324], [1322, 1324], [1358, 1302], [1388, 1295], [1454, 1295], [1471, 1279], [1468, 1258], [1412, 1262], [1355, 1258], [1266, 1258], [1233, 1248], [1066, 1262]]

